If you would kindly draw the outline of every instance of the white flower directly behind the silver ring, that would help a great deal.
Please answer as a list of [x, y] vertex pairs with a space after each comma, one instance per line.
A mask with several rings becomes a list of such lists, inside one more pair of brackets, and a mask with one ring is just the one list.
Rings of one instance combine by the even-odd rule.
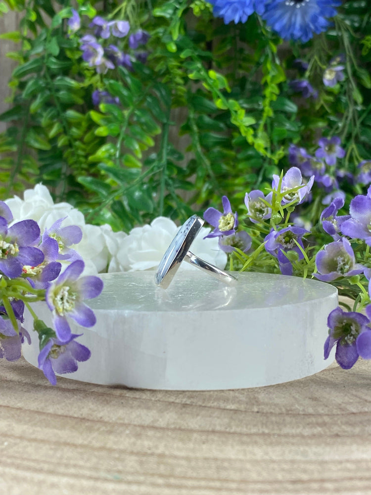
[[[155, 218], [150, 225], [136, 227], [122, 240], [109, 271], [113, 271], [114, 267], [123, 271], [156, 269], [179, 229], [170, 218], [165, 217]], [[191, 251], [205, 261], [224, 268], [227, 254], [219, 248], [218, 238], [203, 239], [209, 232], [209, 228], [201, 228]], [[181, 269], [188, 268], [192, 269], [188, 263], [182, 263]]]

